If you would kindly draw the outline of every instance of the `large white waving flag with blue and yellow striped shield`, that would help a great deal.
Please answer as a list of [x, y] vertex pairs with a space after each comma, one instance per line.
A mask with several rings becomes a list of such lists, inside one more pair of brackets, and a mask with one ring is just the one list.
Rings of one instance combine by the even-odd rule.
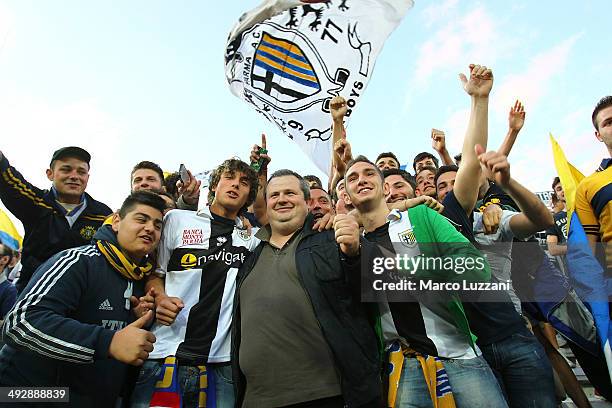
[[343, 96], [350, 116], [385, 40], [412, 5], [412, 0], [266, 0], [230, 33], [225, 55], [230, 89], [327, 174], [330, 100]]

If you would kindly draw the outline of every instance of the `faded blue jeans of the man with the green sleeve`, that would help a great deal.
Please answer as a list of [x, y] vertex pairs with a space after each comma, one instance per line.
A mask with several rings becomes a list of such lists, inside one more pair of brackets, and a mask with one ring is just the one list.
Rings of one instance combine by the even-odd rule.
[[[508, 407], [495, 376], [482, 356], [443, 361], [458, 408]], [[416, 358], [404, 359], [395, 407], [433, 407], [423, 370]]]

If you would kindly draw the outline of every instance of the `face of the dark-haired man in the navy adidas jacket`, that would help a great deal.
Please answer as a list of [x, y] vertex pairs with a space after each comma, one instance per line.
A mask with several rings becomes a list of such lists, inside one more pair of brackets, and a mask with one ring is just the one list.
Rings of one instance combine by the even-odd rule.
[[117, 242], [132, 261], [139, 263], [157, 247], [162, 218], [161, 211], [145, 204], [134, 205], [123, 218], [119, 214], [113, 216]]

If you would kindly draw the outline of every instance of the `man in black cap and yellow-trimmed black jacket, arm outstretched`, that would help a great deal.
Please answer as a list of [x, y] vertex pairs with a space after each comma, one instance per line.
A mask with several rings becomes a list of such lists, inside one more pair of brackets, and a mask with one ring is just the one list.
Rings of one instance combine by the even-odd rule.
[[112, 213], [85, 192], [90, 154], [80, 147], [63, 147], [53, 153], [47, 178], [53, 184], [41, 190], [30, 184], [0, 151], [0, 200], [25, 229], [21, 275], [15, 284], [21, 292], [43, 262], [68, 248], [85, 245]]

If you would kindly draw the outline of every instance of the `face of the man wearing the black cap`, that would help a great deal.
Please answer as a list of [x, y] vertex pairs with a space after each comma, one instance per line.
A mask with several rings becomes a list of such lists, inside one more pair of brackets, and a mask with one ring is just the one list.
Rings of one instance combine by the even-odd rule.
[[54, 160], [47, 178], [53, 182], [61, 202], [78, 204], [89, 181], [89, 165], [73, 157]]

